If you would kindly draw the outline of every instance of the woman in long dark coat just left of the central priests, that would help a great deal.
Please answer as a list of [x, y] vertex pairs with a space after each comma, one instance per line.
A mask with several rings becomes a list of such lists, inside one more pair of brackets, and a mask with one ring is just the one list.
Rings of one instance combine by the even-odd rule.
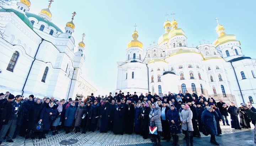
[[98, 105], [98, 101], [94, 101], [94, 104], [91, 105], [91, 109], [89, 111], [89, 131], [94, 132], [97, 127], [98, 117], [100, 115], [100, 108]]

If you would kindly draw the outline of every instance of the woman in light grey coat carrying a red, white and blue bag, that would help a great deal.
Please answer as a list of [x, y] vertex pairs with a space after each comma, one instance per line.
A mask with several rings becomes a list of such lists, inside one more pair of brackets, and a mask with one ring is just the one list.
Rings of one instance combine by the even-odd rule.
[[160, 133], [162, 132], [162, 124], [161, 124], [161, 108], [158, 107], [157, 103], [152, 104], [152, 109], [149, 113], [150, 125], [152, 122], [155, 123], [157, 127], [157, 135], [153, 135], [153, 146], [157, 145], [156, 139], [158, 139], [158, 145], [161, 145]]

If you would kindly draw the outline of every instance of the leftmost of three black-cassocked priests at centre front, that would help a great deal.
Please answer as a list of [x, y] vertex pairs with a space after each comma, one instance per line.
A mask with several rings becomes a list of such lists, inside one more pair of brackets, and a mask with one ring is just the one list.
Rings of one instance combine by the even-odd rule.
[[105, 99], [105, 104], [101, 108], [101, 128], [100, 132], [106, 133], [108, 131], [108, 121], [110, 120], [111, 105], [108, 98]]

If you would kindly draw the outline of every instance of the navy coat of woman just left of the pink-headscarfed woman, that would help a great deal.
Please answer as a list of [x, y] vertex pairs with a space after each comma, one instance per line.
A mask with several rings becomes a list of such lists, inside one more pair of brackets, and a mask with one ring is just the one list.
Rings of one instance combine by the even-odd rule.
[[[171, 134], [179, 134], [181, 133], [180, 131], [180, 122], [179, 122], [179, 115], [178, 115], [178, 111], [176, 108], [174, 108], [173, 110], [169, 109], [167, 111], [167, 115], [166, 115], [166, 118], [168, 119], [168, 123], [169, 123], [169, 132]], [[178, 128], [177, 131], [174, 131], [173, 129], [171, 129], [171, 125], [172, 125], [172, 122], [171, 120], [174, 120], [174, 124], [176, 125], [176, 127]]]

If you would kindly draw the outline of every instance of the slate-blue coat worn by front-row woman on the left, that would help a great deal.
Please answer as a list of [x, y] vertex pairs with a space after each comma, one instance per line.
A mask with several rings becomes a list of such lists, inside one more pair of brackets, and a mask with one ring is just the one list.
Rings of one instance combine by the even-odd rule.
[[76, 106], [70, 105], [65, 112], [64, 126], [72, 126], [75, 119]]

